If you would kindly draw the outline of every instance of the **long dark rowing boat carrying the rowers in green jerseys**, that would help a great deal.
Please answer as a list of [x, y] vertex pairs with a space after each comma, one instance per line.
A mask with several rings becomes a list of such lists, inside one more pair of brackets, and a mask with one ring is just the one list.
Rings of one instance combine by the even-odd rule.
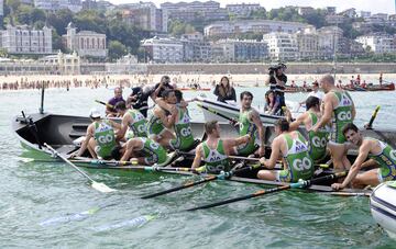
[[[30, 122], [31, 121], [31, 122]], [[45, 147], [41, 147], [40, 144], [47, 143], [53, 148], [56, 149], [59, 154], [68, 156], [72, 152], [78, 149], [78, 146], [74, 144], [74, 140], [84, 136], [86, 129], [90, 123], [89, 117], [84, 116], [70, 116], [70, 115], [57, 115], [57, 114], [31, 114], [26, 117], [15, 116], [12, 120], [12, 128], [14, 134], [19, 138], [21, 145], [29, 149], [34, 150], [40, 154], [40, 158], [45, 160], [54, 161], [54, 158], [51, 157], [52, 152]], [[271, 154], [271, 142], [275, 137], [273, 125], [265, 125], [265, 145], [266, 145], [266, 156]], [[224, 137], [237, 137], [238, 133], [231, 125], [221, 124], [222, 136]], [[191, 132], [195, 137], [202, 137], [204, 134], [204, 123], [194, 122], [191, 123]], [[305, 134], [304, 129], [300, 129]], [[364, 131], [364, 134], [372, 137], [378, 137], [375, 131]], [[396, 132], [382, 131], [383, 136], [387, 136], [387, 139], [395, 139]], [[186, 158], [184, 161], [175, 165], [176, 167], [186, 167], [190, 166], [193, 158]], [[135, 167], [120, 167], [119, 165], [110, 161], [100, 161], [94, 160], [88, 157], [81, 157], [74, 161], [77, 166], [96, 168], [96, 169], [117, 169], [117, 170], [136, 170], [139, 166]], [[145, 167], [140, 167], [142, 171]], [[191, 172], [184, 171], [173, 171], [165, 170], [161, 171], [165, 173], [177, 173], [183, 176], [191, 176]], [[282, 183], [274, 181], [258, 180], [255, 177], [255, 172], [250, 172], [242, 176], [234, 176], [230, 179], [231, 181], [244, 182], [244, 183], [254, 183], [254, 184], [264, 184], [264, 185], [279, 185]], [[329, 185], [311, 185], [309, 188], [311, 191], [324, 192], [330, 194], [340, 194], [340, 195], [366, 195], [370, 194], [370, 190], [355, 190], [355, 189], [344, 189], [341, 192], [333, 192]]]

